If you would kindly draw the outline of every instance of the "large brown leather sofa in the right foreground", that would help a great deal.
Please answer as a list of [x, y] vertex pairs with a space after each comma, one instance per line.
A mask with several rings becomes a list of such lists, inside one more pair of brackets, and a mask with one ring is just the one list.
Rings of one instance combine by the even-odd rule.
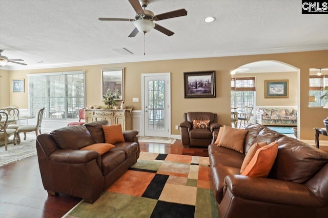
[[[219, 217], [327, 217], [328, 153], [259, 124], [246, 129], [244, 154], [209, 146]], [[214, 140], [216, 136], [214, 132]], [[264, 141], [279, 146], [268, 178], [241, 176], [245, 154]]]

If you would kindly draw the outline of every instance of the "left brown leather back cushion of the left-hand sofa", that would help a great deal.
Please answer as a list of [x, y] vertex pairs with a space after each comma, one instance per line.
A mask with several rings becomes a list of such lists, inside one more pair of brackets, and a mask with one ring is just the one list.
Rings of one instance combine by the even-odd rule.
[[61, 149], [81, 149], [94, 144], [89, 130], [85, 126], [70, 126], [50, 132], [53, 140]]

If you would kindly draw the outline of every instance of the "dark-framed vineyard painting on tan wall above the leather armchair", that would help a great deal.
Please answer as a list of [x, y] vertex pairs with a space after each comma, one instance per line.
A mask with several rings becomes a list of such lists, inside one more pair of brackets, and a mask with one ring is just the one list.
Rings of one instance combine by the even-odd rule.
[[215, 98], [215, 71], [183, 72], [186, 98]]

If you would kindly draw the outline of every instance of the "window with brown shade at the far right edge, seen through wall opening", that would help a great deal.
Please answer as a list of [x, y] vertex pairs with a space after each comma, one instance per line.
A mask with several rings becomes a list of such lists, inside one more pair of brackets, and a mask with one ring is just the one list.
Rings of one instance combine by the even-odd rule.
[[320, 99], [320, 97], [326, 93], [328, 90], [328, 75], [310, 75], [310, 91], [309, 95], [315, 97], [315, 102], [310, 102], [310, 107], [324, 106], [328, 103], [328, 98]]

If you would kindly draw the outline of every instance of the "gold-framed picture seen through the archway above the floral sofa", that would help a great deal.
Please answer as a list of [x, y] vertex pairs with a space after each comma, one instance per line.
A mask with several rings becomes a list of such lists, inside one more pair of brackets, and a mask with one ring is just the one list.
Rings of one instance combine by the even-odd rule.
[[264, 98], [289, 98], [289, 80], [264, 80]]

